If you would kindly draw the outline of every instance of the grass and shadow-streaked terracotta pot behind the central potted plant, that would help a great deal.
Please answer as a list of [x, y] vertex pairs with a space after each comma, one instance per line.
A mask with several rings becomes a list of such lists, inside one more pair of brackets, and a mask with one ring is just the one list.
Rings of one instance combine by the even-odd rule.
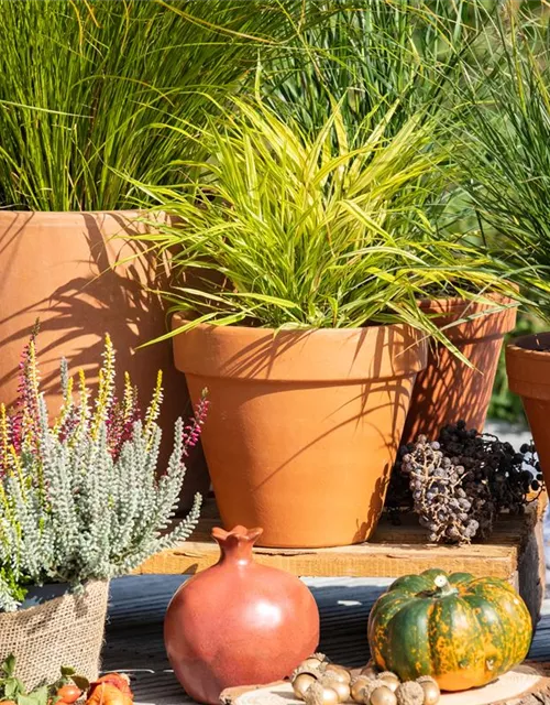
[[[397, 104], [388, 131], [395, 133], [413, 116], [436, 116], [440, 129], [433, 135], [450, 154], [458, 140], [452, 126], [457, 108], [454, 89], [472, 45], [491, 19], [480, 3], [395, 3], [363, 0], [336, 12], [330, 22], [306, 28], [295, 39], [295, 51], [265, 62], [266, 99], [278, 112], [293, 116], [305, 130], [318, 130], [332, 105], [340, 101], [349, 134], [356, 133], [365, 115], [381, 101]], [[452, 116], [452, 120], [449, 119]], [[433, 194], [426, 210], [438, 223], [438, 237], [465, 248], [468, 221], [463, 218], [460, 184], [449, 182]], [[472, 243], [471, 243], [472, 245]], [[444, 345], [432, 341], [428, 365], [415, 384], [403, 442], [439, 431], [458, 419], [482, 429], [487, 414], [503, 339], [516, 321], [514, 290], [502, 282], [495, 289], [494, 265], [481, 243], [475, 284], [464, 281], [433, 282], [419, 293], [419, 305], [460, 349], [457, 357]], [[441, 285], [443, 284], [443, 285]], [[468, 362], [464, 361], [468, 359]]]

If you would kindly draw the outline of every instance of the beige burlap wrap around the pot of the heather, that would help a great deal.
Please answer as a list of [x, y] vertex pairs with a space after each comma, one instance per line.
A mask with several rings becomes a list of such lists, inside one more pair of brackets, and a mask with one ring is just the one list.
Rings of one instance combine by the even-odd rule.
[[100, 668], [108, 582], [88, 583], [43, 605], [0, 614], [0, 659], [15, 655], [15, 675], [28, 690], [53, 683], [62, 665], [95, 680]]

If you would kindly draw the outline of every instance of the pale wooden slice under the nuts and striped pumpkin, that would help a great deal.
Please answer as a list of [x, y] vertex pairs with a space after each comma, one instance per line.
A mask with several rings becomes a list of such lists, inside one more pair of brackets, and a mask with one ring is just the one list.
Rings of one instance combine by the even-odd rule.
[[[550, 705], [548, 664], [525, 664], [482, 688], [443, 693], [439, 705]], [[301, 705], [288, 682], [223, 691], [223, 705]]]

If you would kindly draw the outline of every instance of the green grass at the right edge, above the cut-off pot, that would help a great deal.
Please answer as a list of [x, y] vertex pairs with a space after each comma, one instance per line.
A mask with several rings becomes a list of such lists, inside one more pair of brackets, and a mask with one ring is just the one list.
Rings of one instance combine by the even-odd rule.
[[550, 321], [549, 15], [496, 25], [498, 61], [464, 69], [457, 152], [491, 256]]

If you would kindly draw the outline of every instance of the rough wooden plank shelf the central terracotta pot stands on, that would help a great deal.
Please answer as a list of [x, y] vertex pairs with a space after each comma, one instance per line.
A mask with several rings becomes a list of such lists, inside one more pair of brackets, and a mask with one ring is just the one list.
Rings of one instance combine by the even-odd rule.
[[[300, 576], [397, 577], [438, 566], [502, 577], [517, 585], [519, 556], [534, 534], [542, 507], [542, 502], [535, 502], [524, 517], [501, 517], [488, 542], [469, 546], [427, 544], [416, 517], [404, 516], [398, 527], [383, 518], [369, 543], [336, 549], [255, 549], [254, 553], [258, 563]], [[219, 551], [210, 533], [219, 523], [216, 505], [208, 501], [191, 539], [152, 556], [136, 573], [183, 575], [213, 565]]]

